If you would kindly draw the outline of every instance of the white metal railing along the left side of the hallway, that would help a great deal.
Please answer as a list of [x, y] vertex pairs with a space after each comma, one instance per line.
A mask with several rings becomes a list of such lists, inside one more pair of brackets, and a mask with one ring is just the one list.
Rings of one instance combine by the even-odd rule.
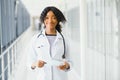
[[[27, 31], [27, 30], [26, 30]], [[25, 31], [25, 32], [26, 32]], [[2, 67], [2, 72], [0, 73], [0, 76], [6, 76], [5, 71], [8, 69], [8, 78], [10, 78], [10, 76], [12, 76], [12, 74], [14, 74], [13, 69], [16, 66], [16, 62], [17, 62], [17, 55], [19, 55], [19, 53], [17, 52], [17, 48], [20, 48], [21, 46], [18, 44], [21, 43], [21, 38], [23, 37], [23, 35], [25, 34], [25, 32], [23, 32], [8, 48], [6, 48], [6, 50], [4, 50], [3, 52], [1, 51], [1, 55], [0, 55], [0, 59], [1, 59], [1, 67]], [[12, 50], [12, 52], [10, 53], [10, 50]], [[14, 52], [13, 52], [14, 51]], [[12, 55], [12, 58], [10, 59], [10, 54]], [[7, 55], [6, 60], [6, 66], [5, 66], [5, 61], [4, 61], [4, 55]], [[15, 63], [14, 63], [15, 62]], [[10, 65], [12, 65], [12, 67], [10, 67]], [[12, 68], [12, 72], [11, 69]], [[4, 78], [2, 78], [2, 80], [4, 80]]]

